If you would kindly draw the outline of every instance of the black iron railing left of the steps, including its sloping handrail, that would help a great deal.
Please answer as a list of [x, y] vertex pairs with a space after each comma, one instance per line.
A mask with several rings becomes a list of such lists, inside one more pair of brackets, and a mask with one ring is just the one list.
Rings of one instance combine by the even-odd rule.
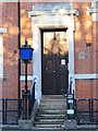
[[0, 99], [0, 121], [2, 124], [19, 124], [19, 119], [30, 119], [35, 103], [35, 82], [29, 94], [23, 94], [21, 99]]

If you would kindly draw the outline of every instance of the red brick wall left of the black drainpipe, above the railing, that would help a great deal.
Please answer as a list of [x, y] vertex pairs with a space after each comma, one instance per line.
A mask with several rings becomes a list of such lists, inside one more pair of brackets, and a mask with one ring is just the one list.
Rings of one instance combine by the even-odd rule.
[[17, 97], [17, 5], [2, 4], [3, 35], [3, 88], [2, 97]]

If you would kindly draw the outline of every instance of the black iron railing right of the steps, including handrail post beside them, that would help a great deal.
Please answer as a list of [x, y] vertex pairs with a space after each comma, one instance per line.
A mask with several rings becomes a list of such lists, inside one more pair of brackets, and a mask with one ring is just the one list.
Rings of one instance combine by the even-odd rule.
[[72, 78], [66, 96], [68, 119], [76, 119], [77, 124], [98, 123], [98, 98], [75, 98]]

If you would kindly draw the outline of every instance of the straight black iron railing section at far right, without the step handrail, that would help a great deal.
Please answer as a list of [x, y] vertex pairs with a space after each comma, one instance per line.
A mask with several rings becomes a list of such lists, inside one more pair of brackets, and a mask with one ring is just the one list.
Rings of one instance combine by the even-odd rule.
[[76, 98], [75, 119], [78, 124], [98, 124], [98, 99]]

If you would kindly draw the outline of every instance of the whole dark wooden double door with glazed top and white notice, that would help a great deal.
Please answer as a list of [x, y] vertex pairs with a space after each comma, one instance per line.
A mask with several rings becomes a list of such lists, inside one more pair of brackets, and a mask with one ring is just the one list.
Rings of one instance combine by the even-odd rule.
[[42, 94], [65, 94], [69, 86], [66, 32], [42, 32]]

